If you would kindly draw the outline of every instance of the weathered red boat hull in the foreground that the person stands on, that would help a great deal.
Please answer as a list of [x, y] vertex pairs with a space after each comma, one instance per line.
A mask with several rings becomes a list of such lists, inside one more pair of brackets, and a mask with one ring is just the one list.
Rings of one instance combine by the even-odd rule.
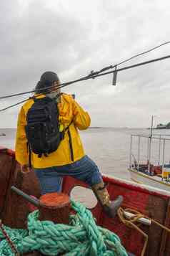
[[[65, 177], [62, 192], [69, 194], [74, 200], [81, 200], [84, 204], [88, 199], [87, 207], [95, 217], [96, 223], [116, 233], [127, 252], [136, 256], [169, 256], [170, 192], [113, 176], [104, 175], [103, 179], [111, 199], [115, 199], [119, 194], [124, 196], [121, 210], [114, 219], [106, 217], [98, 202], [93, 199], [91, 189], [83, 182], [69, 176]], [[34, 171], [26, 175], [21, 174], [20, 166], [15, 161], [14, 151], [7, 148], [0, 148], [0, 184], [1, 222], [11, 228], [26, 229], [26, 219], [30, 213], [28, 202], [11, 191], [11, 186], [16, 186], [24, 193], [39, 198], [39, 183]], [[79, 199], [76, 197], [76, 189], [79, 190]], [[150, 218], [166, 226], [166, 229]], [[26, 255], [35, 255], [35, 252]]]

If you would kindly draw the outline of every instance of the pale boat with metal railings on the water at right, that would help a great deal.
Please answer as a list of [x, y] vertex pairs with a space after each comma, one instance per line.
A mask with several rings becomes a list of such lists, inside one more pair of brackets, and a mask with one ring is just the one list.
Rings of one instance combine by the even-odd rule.
[[170, 136], [134, 134], [130, 145], [131, 180], [170, 191]]

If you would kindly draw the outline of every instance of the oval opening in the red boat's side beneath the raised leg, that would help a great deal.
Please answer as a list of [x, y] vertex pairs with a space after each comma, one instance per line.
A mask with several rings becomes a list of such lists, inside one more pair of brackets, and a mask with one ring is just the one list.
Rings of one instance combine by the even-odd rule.
[[74, 186], [70, 193], [71, 199], [80, 202], [86, 208], [92, 209], [96, 207], [97, 199], [91, 189], [86, 189], [83, 186]]

